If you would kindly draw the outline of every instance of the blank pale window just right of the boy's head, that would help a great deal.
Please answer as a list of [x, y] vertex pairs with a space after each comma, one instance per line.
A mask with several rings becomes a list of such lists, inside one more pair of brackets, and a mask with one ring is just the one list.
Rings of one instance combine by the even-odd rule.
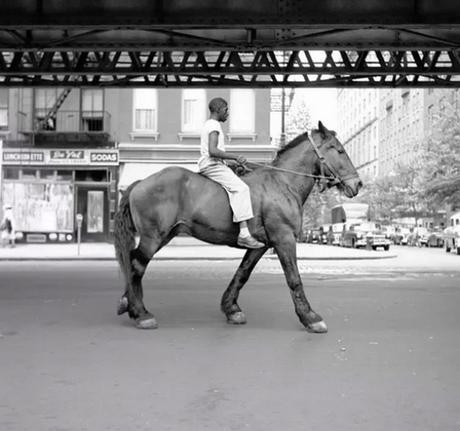
[[255, 92], [250, 89], [230, 91], [230, 133], [255, 131]]

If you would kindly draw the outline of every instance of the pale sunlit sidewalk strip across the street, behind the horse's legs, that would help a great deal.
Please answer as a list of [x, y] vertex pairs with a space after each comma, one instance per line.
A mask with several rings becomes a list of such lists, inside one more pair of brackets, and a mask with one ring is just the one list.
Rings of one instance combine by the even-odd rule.
[[[156, 255], [157, 260], [240, 260], [245, 250], [211, 245], [191, 237], [176, 237]], [[390, 251], [357, 250], [318, 244], [297, 244], [299, 260], [386, 259], [396, 255]], [[17, 244], [15, 248], [0, 248], [0, 261], [21, 260], [114, 260], [113, 244], [83, 243], [78, 254], [77, 244]], [[278, 259], [266, 253], [264, 259]]]

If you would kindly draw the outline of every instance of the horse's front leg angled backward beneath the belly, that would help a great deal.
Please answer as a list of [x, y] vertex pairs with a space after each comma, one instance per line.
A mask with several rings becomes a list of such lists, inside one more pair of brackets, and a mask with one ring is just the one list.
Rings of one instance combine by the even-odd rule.
[[234, 325], [242, 325], [246, 323], [246, 316], [238, 305], [238, 295], [241, 288], [248, 281], [249, 276], [251, 275], [251, 272], [257, 262], [266, 251], [267, 248], [265, 247], [248, 250], [243, 257], [240, 266], [236, 270], [232, 281], [222, 295], [220, 308], [227, 316], [228, 323], [232, 323]]

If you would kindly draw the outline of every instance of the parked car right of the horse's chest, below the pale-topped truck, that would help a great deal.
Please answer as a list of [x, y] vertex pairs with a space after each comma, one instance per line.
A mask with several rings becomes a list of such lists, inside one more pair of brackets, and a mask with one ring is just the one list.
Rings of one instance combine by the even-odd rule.
[[373, 222], [353, 223], [345, 225], [340, 238], [343, 247], [367, 247], [376, 250], [383, 247], [390, 249], [390, 240], [382, 233], [380, 226]]

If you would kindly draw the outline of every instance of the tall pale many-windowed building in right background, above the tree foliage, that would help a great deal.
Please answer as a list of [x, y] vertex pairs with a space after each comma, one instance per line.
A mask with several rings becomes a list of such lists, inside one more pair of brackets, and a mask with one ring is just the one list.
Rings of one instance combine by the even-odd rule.
[[340, 138], [364, 177], [410, 164], [446, 110], [460, 111], [458, 89], [340, 89]]

